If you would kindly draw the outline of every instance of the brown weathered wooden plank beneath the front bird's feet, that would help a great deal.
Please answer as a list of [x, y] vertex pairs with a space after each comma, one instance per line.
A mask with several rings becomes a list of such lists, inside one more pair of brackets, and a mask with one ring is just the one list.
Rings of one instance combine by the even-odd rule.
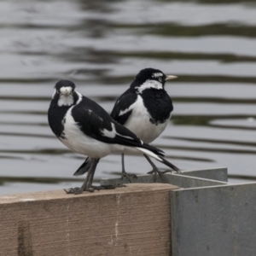
[[149, 183], [0, 196], [0, 255], [170, 255], [172, 189]]

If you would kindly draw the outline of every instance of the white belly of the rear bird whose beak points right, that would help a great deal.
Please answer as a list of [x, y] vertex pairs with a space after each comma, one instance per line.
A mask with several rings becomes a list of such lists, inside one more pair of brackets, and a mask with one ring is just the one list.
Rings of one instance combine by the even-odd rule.
[[133, 103], [132, 113], [124, 126], [135, 133], [144, 143], [152, 143], [166, 129], [171, 114], [165, 123], [158, 125], [152, 124], [149, 121], [150, 118], [151, 116], [143, 104], [143, 98], [138, 95], [137, 102]]

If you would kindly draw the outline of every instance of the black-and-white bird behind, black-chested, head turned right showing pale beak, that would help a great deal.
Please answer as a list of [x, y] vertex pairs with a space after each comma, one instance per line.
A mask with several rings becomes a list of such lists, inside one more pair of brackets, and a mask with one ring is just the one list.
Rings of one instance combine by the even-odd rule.
[[[165, 73], [154, 68], [141, 70], [130, 88], [115, 102], [111, 117], [134, 132], [144, 143], [152, 143], [166, 129], [172, 115], [172, 99], [165, 90], [166, 81], [171, 79], [177, 79], [177, 77], [166, 76]], [[124, 154], [122, 153], [121, 178], [126, 177], [131, 182], [130, 177], [136, 177], [136, 175], [125, 172]], [[148, 173], [154, 174], [155, 179], [157, 174], [162, 177], [163, 173], [171, 172], [170, 170], [161, 172], [147, 154], [144, 156], [153, 167], [153, 170]], [[177, 166], [170, 167], [180, 172]], [[87, 158], [74, 176], [84, 174], [89, 168], [90, 158]]]

